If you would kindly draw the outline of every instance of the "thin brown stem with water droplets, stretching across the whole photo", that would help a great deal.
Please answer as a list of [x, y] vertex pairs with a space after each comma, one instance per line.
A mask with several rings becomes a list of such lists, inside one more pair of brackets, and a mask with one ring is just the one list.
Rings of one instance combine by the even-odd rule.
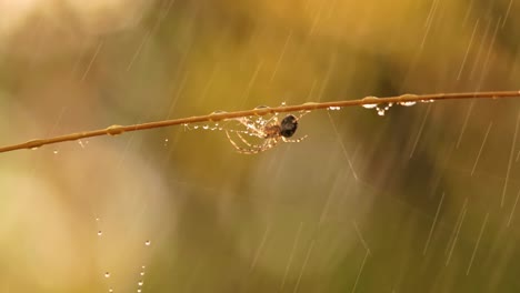
[[0, 148], [0, 153], [9, 152], [21, 149], [34, 149], [47, 144], [53, 144], [64, 141], [76, 141], [92, 137], [102, 135], [118, 135], [123, 132], [131, 132], [146, 129], [166, 128], [171, 125], [182, 125], [197, 122], [216, 122], [228, 119], [236, 119], [241, 117], [250, 115], [266, 115], [272, 113], [286, 113], [286, 112], [298, 112], [298, 111], [312, 111], [319, 109], [337, 109], [342, 107], [363, 105], [363, 104], [382, 104], [382, 103], [404, 103], [404, 102], [428, 102], [439, 100], [460, 100], [460, 99], [504, 99], [504, 98], [520, 98], [520, 91], [492, 91], [492, 92], [463, 92], [463, 93], [436, 93], [436, 94], [402, 94], [399, 97], [389, 98], [376, 98], [367, 97], [360, 100], [347, 100], [337, 102], [323, 102], [323, 103], [303, 103], [299, 105], [281, 105], [274, 108], [258, 108], [247, 111], [236, 112], [213, 112], [208, 115], [198, 115], [189, 118], [180, 118], [173, 120], [162, 120], [156, 122], [148, 122], [133, 125], [111, 125], [106, 129], [83, 131], [77, 133], [70, 133], [61, 137], [54, 137], [49, 139], [31, 140], [19, 144], [12, 144]]

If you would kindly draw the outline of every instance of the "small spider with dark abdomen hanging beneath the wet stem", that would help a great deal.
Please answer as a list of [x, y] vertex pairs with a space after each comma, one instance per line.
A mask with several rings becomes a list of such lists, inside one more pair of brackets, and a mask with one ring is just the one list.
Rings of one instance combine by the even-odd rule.
[[[301, 115], [300, 115], [301, 118]], [[263, 152], [274, 148], [279, 142], [300, 142], [307, 138], [307, 135], [298, 139], [298, 140], [290, 140], [294, 132], [298, 129], [298, 120], [294, 115], [287, 115], [282, 119], [281, 122], [278, 122], [278, 117], [274, 115], [270, 120], [259, 120], [254, 122], [248, 118], [239, 119], [239, 122], [242, 123], [247, 131], [228, 131], [226, 130], [226, 135], [228, 135], [229, 141], [231, 144], [237, 149], [239, 153], [244, 154], [254, 154], [259, 152]], [[240, 141], [246, 145], [246, 148], [240, 146], [229, 134], [229, 132], [234, 132]], [[248, 142], [242, 134], [247, 133], [251, 137], [257, 137], [263, 139], [263, 142], [260, 144], [252, 144]]]

